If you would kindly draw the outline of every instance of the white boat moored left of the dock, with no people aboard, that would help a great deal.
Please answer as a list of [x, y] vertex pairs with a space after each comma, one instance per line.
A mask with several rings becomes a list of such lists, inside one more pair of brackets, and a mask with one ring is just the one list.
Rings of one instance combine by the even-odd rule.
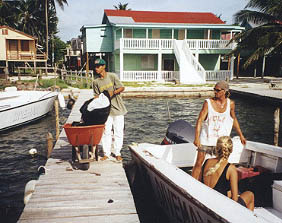
[[0, 92], [0, 132], [44, 117], [58, 97], [58, 92], [52, 91], [5, 90]]

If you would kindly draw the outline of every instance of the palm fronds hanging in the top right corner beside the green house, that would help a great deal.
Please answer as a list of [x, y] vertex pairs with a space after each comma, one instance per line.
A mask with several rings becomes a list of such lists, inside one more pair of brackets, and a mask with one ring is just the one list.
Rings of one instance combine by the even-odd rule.
[[265, 55], [282, 57], [281, 0], [249, 0], [245, 9], [237, 12], [234, 17], [237, 23], [247, 21], [258, 25], [233, 38], [238, 45], [232, 53], [236, 55], [242, 51], [252, 52], [244, 67]]

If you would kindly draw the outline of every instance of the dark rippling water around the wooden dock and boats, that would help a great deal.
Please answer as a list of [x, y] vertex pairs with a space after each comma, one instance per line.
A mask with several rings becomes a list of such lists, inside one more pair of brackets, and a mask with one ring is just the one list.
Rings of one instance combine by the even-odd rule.
[[[125, 160], [131, 159], [127, 145], [132, 142], [161, 143], [168, 124], [175, 120], [184, 119], [194, 126], [203, 101], [203, 98], [126, 99], [125, 104], [129, 112], [125, 117], [125, 138], [122, 150]], [[274, 110], [274, 106], [236, 99], [236, 114], [245, 137], [249, 140], [273, 144]], [[68, 110], [60, 111], [61, 124], [65, 123], [68, 115]], [[53, 114], [36, 123], [0, 135], [1, 222], [16, 222], [21, 214], [24, 186], [29, 180], [37, 179], [38, 167], [46, 162], [48, 132], [55, 136]], [[279, 143], [282, 145], [282, 124]], [[31, 148], [38, 150], [37, 156], [28, 155]], [[139, 193], [142, 194], [142, 191]], [[143, 215], [146, 215], [144, 211]], [[156, 214], [152, 216], [152, 213], [147, 215], [144, 218], [149, 219], [147, 222], [152, 222], [152, 219], [154, 222], [161, 222], [161, 220], [155, 221], [155, 219], [161, 219], [160, 216]]]

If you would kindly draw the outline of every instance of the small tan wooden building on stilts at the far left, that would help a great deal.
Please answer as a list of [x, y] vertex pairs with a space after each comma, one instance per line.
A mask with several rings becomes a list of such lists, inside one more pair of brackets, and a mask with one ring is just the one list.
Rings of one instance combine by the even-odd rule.
[[0, 68], [36, 68], [37, 63], [47, 63], [45, 53], [38, 50], [37, 38], [9, 26], [0, 26]]

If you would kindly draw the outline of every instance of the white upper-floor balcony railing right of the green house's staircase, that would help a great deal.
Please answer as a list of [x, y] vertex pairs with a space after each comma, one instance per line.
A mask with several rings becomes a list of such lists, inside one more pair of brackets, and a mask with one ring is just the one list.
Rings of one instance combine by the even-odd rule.
[[186, 39], [189, 49], [233, 49], [234, 44], [229, 43], [229, 40], [200, 40], [200, 39]]

